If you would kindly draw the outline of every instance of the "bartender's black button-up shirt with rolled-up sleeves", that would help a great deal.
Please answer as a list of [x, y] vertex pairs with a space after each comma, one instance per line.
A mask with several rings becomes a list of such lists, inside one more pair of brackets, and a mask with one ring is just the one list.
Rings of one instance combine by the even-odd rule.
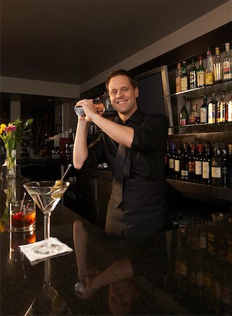
[[[118, 124], [123, 124], [118, 119]], [[134, 129], [134, 139], [128, 149], [130, 159], [130, 175], [125, 175], [125, 182], [128, 179], [151, 180], [161, 183], [165, 180], [164, 159], [166, 142], [168, 137], [168, 119], [163, 114], [144, 114], [137, 109], [134, 114], [125, 121], [126, 126]], [[88, 159], [83, 167], [97, 166], [107, 162], [109, 171], [114, 177], [114, 162], [118, 143], [101, 133], [100, 136], [88, 147]]]

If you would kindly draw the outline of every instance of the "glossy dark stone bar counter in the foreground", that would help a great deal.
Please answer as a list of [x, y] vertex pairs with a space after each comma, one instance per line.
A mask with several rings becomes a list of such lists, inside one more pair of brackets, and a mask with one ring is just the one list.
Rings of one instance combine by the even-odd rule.
[[[232, 314], [231, 217], [119, 241], [61, 201], [51, 216], [51, 236], [74, 251], [31, 264], [18, 245], [43, 239], [43, 214], [36, 211], [34, 232], [10, 232], [8, 202], [24, 190], [19, 180], [0, 181], [0, 315]], [[121, 279], [121, 263], [128, 262], [134, 277]], [[75, 291], [82, 273], [90, 280], [100, 275], [89, 297]], [[101, 286], [107, 279], [114, 282]]]

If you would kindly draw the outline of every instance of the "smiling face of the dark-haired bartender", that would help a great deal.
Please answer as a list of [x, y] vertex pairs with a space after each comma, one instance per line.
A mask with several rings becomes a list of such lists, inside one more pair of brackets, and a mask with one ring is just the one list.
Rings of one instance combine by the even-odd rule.
[[114, 110], [129, 118], [137, 109], [136, 98], [139, 96], [139, 89], [134, 89], [128, 77], [123, 75], [111, 78], [108, 88]]

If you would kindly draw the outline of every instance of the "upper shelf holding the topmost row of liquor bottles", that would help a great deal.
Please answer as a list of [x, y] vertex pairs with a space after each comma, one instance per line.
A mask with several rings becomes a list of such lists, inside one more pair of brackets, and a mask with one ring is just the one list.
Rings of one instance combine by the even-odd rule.
[[205, 95], [214, 93], [221, 93], [221, 91], [232, 90], [232, 80], [223, 81], [219, 84], [212, 84], [212, 86], [205, 86], [202, 88], [189, 89], [179, 93], [172, 93], [168, 97], [186, 96], [186, 98], [203, 98]]

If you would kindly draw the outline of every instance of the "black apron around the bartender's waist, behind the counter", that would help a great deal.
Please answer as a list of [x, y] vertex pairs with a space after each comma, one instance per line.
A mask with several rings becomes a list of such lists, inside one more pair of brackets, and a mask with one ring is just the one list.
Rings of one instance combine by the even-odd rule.
[[172, 228], [165, 184], [129, 180], [123, 187], [123, 202], [115, 208], [114, 192], [107, 209], [105, 232], [118, 239], [142, 237]]

